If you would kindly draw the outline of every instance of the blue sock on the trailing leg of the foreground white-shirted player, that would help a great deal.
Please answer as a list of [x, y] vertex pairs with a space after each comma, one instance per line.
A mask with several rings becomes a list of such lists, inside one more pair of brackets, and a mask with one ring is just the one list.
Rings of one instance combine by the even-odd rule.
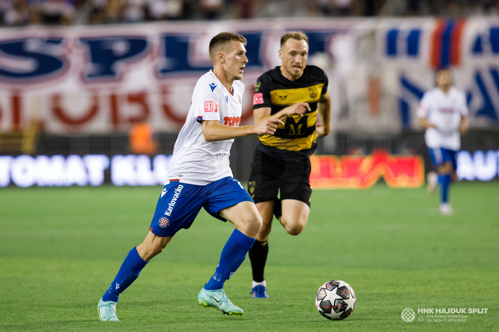
[[149, 262], [140, 258], [137, 247], [133, 247], [133, 249], [128, 252], [123, 264], [121, 264], [118, 274], [111, 283], [111, 286], [102, 296], [102, 301], [118, 302], [120, 293], [137, 279], [140, 271], [142, 271], [147, 263]]

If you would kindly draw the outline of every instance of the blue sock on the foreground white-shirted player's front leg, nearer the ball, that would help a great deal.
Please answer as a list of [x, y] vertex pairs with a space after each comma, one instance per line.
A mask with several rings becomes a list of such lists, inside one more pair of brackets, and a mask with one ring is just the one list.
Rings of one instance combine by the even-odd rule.
[[222, 249], [220, 263], [213, 277], [205, 285], [206, 290], [222, 289], [228, 280], [241, 266], [246, 258], [246, 253], [254, 243], [254, 238], [248, 237], [238, 229], [234, 229], [227, 243]]

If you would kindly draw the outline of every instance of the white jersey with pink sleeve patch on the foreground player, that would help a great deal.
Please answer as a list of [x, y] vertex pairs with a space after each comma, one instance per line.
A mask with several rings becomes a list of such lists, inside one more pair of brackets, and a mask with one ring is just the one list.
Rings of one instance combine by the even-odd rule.
[[234, 139], [207, 142], [202, 127], [203, 120], [239, 126], [245, 86], [241, 81], [234, 81], [232, 88], [231, 94], [212, 70], [198, 80], [186, 123], [175, 142], [167, 181], [179, 179], [181, 183], [207, 185], [232, 177], [229, 155]]

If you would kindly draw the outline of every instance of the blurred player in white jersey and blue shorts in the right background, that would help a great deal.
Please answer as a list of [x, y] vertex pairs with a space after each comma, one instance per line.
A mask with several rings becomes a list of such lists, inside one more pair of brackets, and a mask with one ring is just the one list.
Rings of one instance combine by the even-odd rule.
[[423, 95], [417, 112], [419, 124], [426, 128], [425, 142], [438, 178], [429, 177], [429, 191], [440, 184], [440, 213], [452, 215], [449, 189], [456, 176], [456, 153], [461, 149], [461, 136], [469, 129], [466, 96], [454, 88], [452, 73], [441, 69], [435, 75], [436, 88]]

